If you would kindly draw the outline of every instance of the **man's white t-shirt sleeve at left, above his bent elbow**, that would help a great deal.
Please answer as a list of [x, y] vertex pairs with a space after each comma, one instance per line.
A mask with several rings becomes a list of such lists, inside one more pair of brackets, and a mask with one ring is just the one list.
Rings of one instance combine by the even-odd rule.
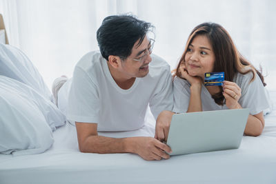
[[99, 122], [97, 85], [81, 68], [76, 67], [68, 98], [68, 119], [82, 123]]

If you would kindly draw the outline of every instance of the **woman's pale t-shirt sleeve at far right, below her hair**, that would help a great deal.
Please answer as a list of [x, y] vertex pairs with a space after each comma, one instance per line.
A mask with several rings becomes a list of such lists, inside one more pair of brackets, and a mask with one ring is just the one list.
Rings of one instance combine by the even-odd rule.
[[253, 74], [246, 74], [244, 76], [246, 77], [241, 81], [242, 86], [239, 86], [242, 89], [242, 96], [239, 99], [239, 104], [242, 105], [242, 108], [249, 108], [250, 114], [259, 114], [259, 112], [269, 108], [264, 85], [257, 74], [255, 75], [255, 79], [251, 82], [250, 80]]

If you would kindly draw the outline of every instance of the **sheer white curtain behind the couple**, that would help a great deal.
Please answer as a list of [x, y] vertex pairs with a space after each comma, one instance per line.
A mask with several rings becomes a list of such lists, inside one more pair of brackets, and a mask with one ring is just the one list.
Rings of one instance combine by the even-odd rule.
[[154, 52], [172, 69], [196, 25], [221, 24], [276, 90], [275, 10], [274, 0], [0, 0], [10, 44], [26, 52], [49, 86], [61, 74], [72, 76], [83, 54], [98, 50], [104, 17], [132, 12], [155, 25]]

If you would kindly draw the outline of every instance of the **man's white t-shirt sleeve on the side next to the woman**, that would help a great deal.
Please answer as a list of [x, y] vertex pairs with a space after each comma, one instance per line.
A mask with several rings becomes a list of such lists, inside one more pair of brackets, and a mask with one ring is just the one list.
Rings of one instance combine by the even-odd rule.
[[150, 110], [157, 119], [160, 112], [163, 110], [172, 110], [173, 96], [172, 96], [172, 74], [170, 74], [170, 68], [165, 70], [164, 74], [158, 83], [159, 88], [155, 91], [150, 99]]

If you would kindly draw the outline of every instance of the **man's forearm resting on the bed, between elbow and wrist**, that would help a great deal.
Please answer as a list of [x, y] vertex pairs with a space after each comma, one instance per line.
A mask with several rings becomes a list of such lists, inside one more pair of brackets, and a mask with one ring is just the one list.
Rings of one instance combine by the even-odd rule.
[[125, 153], [134, 152], [134, 138], [110, 138], [106, 136], [88, 136], [83, 143], [79, 143], [81, 152], [90, 153]]

